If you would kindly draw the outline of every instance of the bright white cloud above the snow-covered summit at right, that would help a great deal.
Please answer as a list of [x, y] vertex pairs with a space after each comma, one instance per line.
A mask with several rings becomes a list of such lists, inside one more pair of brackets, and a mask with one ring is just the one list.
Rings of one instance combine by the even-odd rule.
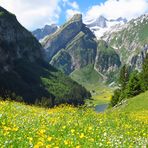
[[107, 0], [92, 6], [85, 15], [85, 20], [103, 15], [108, 19], [125, 17], [128, 20], [148, 12], [148, 0]]

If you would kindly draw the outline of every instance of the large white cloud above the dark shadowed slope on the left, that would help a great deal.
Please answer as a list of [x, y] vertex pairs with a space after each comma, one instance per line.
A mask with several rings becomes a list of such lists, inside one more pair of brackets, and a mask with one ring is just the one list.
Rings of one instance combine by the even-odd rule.
[[45, 24], [57, 23], [61, 0], [1, 0], [0, 5], [14, 13], [21, 24], [32, 30]]

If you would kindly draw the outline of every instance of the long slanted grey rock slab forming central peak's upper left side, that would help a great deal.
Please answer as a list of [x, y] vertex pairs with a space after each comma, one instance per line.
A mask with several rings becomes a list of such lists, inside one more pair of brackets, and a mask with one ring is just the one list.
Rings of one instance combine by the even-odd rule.
[[82, 16], [75, 15], [69, 22], [64, 24], [59, 31], [51, 36], [47, 36], [42, 41], [47, 60], [51, 60], [60, 49], [65, 48], [66, 44], [81, 31], [81, 28]]

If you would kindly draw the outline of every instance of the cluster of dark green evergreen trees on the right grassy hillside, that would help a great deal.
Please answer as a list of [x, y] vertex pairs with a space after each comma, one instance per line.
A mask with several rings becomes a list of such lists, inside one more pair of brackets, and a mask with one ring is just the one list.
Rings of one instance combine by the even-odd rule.
[[130, 67], [124, 65], [120, 70], [119, 88], [114, 91], [111, 99], [111, 106], [124, 99], [134, 97], [148, 90], [148, 54], [144, 59], [142, 71], [131, 71]]

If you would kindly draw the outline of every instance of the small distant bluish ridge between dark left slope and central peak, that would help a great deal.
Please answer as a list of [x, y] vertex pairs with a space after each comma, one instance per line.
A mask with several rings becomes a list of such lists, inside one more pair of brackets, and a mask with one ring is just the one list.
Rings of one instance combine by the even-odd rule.
[[32, 32], [32, 34], [36, 37], [37, 40], [41, 40], [47, 35], [53, 34], [58, 29], [58, 26], [55, 24], [52, 25], [45, 25], [41, 29], [36, 29]]

